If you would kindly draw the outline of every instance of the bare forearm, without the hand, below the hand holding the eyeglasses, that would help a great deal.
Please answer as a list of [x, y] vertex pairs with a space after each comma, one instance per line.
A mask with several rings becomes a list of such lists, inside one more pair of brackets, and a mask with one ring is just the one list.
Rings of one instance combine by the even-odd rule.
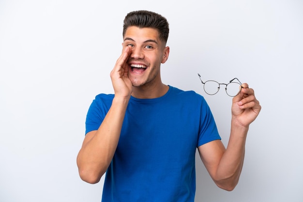
[[216, 172], [216, 184], [221, 188], [232, 190], [238, 184], [243, 167], [247, 132], [248, 127], [242, 127], [232, 121], [227, 149]]

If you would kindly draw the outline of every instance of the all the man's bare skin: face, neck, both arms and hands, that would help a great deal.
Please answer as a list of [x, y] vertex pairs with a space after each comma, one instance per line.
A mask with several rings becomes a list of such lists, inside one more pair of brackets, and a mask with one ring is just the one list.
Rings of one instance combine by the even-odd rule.
[[[168, 55], [169, 47], [159, 39], [156, 29], [129, 27], [126, 30], [122, 54], [110, 72], [115, 91], [112, 105], [99, 129], [86, 134], [77, 156], [82, 180], [98, 183], [106, 172], [118, 145], [131, 95], [151, 99], [167, 92], [169, 87], [161, 81], [160, 65], [167, 61]], [[133, 71], [132, 65], [143, 65], [146, 69]], [[198, 147], [201, 160], [218, 187], [232, 190], [237, 185], [243, 166], [247, 131], [260, 110], [254, 90], [248, 84], [242, 84], [241, 93], [232, 100], [227, 148], [220, 140]]]

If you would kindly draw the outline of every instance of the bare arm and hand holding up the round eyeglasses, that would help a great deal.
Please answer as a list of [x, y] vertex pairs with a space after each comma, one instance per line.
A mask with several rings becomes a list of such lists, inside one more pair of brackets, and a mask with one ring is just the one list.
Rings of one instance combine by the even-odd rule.
[[250, 123], [258, 116], [261, 106], [254, 90], [242, 85], [241, 93], [233, 98], [230, 137], [225, 149], [220, 140], [198, 147], [200, 157], [213, 181], [220, 188], [233, 190], [242, 171], [246, 135]]

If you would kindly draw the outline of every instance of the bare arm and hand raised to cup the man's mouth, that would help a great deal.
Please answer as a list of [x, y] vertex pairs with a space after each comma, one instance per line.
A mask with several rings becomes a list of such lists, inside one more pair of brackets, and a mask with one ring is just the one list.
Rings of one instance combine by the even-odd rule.
[[77, 166], [82, 180], [98, 183], [106, 172], [116, 151], [125, 111], [132, 93], [128, 78], [127, 58], [130, 49], [125, 48], [118, 58], [110, 77], [115, 90], [112, 105], [98, 130], [88, 132], [77, 156]]

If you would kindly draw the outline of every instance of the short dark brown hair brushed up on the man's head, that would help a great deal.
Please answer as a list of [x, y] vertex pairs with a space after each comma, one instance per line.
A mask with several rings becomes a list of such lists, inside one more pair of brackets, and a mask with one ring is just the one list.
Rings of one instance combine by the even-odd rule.
[[128, 13], [123, 23], [123, 38], [126, 29], [135, 26], [138, 28], [153, 28], [159, 32], [159, 38], [167, 43], [169, 26], [167, 19], [160, 14], [151, 11], [133, 11]]

